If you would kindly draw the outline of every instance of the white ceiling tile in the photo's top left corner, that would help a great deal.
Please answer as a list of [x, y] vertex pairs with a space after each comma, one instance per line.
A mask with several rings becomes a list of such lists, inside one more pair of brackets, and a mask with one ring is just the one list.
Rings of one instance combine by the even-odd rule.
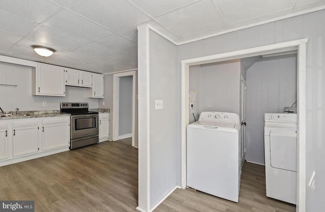
[[0, 10], [41, 23], [60, 7], [44, 0], [1, 0]]

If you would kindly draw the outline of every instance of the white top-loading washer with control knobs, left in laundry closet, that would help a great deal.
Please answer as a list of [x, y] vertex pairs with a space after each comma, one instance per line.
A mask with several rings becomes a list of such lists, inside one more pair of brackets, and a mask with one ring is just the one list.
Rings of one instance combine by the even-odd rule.
[[187, 186], [238, 202], [241, 175], [239, 116], [202, 112], [187, 126]]

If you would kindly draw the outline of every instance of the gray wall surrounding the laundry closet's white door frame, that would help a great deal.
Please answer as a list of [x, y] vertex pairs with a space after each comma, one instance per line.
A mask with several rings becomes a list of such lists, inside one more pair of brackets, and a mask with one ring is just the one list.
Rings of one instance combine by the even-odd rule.
[[[181, 63], [222, 52], [308, 38], [306, 46], [306, 192], [307, 211], [322, 211], [325, 199], [325, 10], [279, 20], [178, 46], [177, 114], [181, 114]], [[173, 86], [174, 84], [171, 84]], [[181, 182], [181, 117], [177, 133], [177, 183]]]

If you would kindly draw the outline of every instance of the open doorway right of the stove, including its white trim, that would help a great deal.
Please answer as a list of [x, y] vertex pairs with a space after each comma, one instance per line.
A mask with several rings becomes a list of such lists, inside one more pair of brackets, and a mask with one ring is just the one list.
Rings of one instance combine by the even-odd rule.
[[[113, 84], [112, 139], [117, 141], [132, 137], [132, 146], [135, 146], [136, 72], [114, 74]], [[131, 88], [132, 95], [129, 94], [130, 89], [128, 88]], [[132, 106], [132, 112], [130, 106]]]

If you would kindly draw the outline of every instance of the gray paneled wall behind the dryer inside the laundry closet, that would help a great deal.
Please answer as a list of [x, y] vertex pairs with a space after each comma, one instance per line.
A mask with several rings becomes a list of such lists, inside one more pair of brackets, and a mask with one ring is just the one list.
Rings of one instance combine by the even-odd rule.
[[297, 100], [297, 56], [259, 59], [246, 76], [245, 159], [265, 164], [264, 113], [283, 113]]

